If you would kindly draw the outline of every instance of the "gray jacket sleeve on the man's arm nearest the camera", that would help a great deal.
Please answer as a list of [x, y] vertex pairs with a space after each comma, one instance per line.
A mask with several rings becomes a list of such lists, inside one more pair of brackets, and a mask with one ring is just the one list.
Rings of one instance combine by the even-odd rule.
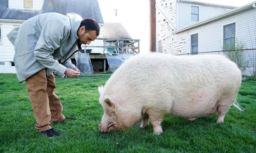
[[66, 37], [66, 30], [61, 21], [47, 21], [42, 28], [34, 51], [36, 59], [59, 76], [65, 73], [66, 67], [54, 59], [52, 54], [54, 50], [60, 47], [61, 40], [64, 37]]

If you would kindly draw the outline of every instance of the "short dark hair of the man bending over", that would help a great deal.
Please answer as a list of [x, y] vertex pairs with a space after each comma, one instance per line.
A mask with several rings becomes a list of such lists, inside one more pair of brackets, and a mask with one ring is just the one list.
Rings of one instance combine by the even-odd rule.
[[[94, 20], [94, 19], [90, 19], [90, 18], [85, 18], [82, 20], [80, 27], [85, 26], [85, 30], [87, 32], [95, 30], [96, 31], [96, 35], [99, 36], [100, 34], [100, 26], [99, 23]], [[79, 27], [79, 28], [80, 28]]]

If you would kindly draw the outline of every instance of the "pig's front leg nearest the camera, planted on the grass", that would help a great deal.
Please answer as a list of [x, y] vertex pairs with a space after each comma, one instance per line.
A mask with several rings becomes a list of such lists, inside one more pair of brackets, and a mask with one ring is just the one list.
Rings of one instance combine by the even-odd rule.
[[153, 125], [154, 134], [159, 135], [163, 132], [161, 122], [163, 121], [164, 115], [160, 112], [156, 111], [149, 111], [149, 120]]

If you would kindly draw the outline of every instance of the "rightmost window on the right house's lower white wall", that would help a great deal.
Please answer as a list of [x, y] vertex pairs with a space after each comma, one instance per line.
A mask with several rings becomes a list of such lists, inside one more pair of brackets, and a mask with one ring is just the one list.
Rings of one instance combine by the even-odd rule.
[[236, 49], [236, 23], [223, 26], [223, 49]]

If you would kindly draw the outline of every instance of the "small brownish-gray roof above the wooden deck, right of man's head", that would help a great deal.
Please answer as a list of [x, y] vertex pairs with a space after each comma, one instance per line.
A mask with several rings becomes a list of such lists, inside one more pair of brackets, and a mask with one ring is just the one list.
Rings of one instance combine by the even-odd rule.
[[104, 23], [103, 38], [127, 38], [132, 39], [121, 23]]

